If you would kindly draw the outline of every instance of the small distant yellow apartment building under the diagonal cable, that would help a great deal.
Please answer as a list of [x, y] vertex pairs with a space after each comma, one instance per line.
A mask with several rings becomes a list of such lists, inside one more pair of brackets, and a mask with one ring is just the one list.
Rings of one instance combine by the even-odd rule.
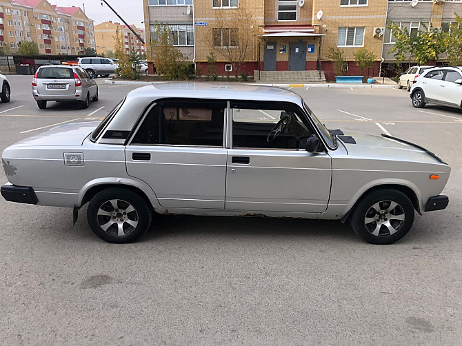
[[[139, 37], [144, 41], [145, 35], [144, 30], [136, 28], [135, 26], [130, 26], [134, 32], [136, 32]], [[115, 45], [115, 35], [119, 28], [120, 35], [125, 44], [125, 52], [130, 54], [130, 52], [135, 51], [137, 54], [145, 54], [145, 44], [139, 41], [139, 39], [133, 34], [133, 32], [121, 23], [112, 23], [112, 21], [105, 21], [94, 26], [94, 34], [97, 39], [97, 52], [102, 54], [106, 50], [114, 50]]]

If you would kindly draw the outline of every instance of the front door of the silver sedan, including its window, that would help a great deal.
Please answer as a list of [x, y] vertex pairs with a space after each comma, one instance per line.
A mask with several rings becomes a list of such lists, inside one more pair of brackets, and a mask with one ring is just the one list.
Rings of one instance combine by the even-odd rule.
[[[275, 124], [290, 114], [284, 132]], [[304, 112], [291, 103], [232, 101], [226, 172], [226, 210], [321, 213], [328, 206], [332, 163], [310, 153], [314, 134]], [[268, 137], [268, 135], [270, 135]]]

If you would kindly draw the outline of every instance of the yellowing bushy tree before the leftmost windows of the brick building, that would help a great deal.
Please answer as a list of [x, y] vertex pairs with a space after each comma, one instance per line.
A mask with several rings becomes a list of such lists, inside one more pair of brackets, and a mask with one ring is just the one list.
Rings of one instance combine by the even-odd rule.
[[151, 34], [152, 59], [157, 74], [165, 79], [188, 79], [190, 65], [183, 62], [185, 57], [172, 44], [172, 30], [163, 23], [155, 23]]

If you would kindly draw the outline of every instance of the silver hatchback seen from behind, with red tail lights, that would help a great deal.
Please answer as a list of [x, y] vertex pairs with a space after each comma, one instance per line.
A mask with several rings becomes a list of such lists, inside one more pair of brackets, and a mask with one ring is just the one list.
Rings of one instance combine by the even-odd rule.
[[98, 85], [78, 66], [41, 66], [32, 79], [32, 95], [41, 110], [47, 101], [79, 101], [88, 108], [90, 99], [98, 101]]

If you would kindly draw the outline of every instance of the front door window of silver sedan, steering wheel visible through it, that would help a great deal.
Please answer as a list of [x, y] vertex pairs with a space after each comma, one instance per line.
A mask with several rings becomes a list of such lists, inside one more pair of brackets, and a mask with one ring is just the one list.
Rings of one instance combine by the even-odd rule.
[[313, 134], [291, 104], [237, 101], [231, 108], [233, 148], [305, 150]]

